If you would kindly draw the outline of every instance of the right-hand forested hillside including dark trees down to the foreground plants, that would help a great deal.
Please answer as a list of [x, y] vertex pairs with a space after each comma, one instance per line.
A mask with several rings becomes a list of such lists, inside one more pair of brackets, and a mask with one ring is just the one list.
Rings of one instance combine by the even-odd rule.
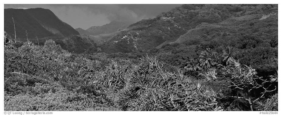
[[[209, 13], [200, 15], [199, 12]], [[210, 17], [215, 15], [213, 13], [217, 13], [221, 18]], [[199, 16], [205, 19], [199, 19]], [[163, 20], [162, 17], [171, 18]], [[183, 23], [181, 28], [174, 29], [174, 25], [166, 25], [176, 22]], [[146, 26], [142, 31], [133, 31], [143, 25], [150, 26]], [[157, 18], [137, 22], [129, 27], [131, 28], [132, 31], [117, 35], [121, 36], [119, 39], [126, 35], [125, 39], [109, 46], [105, 44], [99, 52], [128, 52], [113, 53], [111, 56], [132, 59], [147, 53], [157, 56], [165, 63], [182, 68], [187, 65], [186, 62], [196, 59], [201, 51], [207, 48], [222, 52], [227, 46], [231, 46], [234, 59], [238, 59], [241, 64], [252, 66], [264, 76], [275, 72], [269, 63], [273, 57], [278, 57], [277, 5], [182, 5], [160, 14]], [[162, 28], [167, 28], [167, 31], [164, 32]], [[178, 29], [185, 30], [185, 33], [174, 33], [182, 32]], [[164, 35], [159, 32], [164, 32]], [[167, 39], [171, 41], [164, 40], [165, 36], [170, 36]], [[130, 41], [131, 38], [136, 41]], [[142, 42], [144, 49], [139, 41], [145, 39], [148, 41]], [[132, 46], [133, 42], [138, 50]]]

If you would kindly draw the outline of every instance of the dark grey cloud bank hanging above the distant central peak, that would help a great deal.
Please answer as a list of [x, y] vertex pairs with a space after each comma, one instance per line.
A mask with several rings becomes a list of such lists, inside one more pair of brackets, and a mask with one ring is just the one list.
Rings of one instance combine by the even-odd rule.
[[177, 4], [91, 4], [72, 5], [87, 8], [93, 14], [104, 14], [110, 21], [139, 21], [144, 18], [154, 18], [161, 12], [167, 12]]

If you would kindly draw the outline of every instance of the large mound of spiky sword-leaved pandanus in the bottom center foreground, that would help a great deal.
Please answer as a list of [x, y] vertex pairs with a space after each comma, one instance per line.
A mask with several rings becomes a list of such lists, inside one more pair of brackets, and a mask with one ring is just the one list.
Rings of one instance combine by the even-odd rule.
[[119, 98], [123, 110], [222, 110], [215, 92], [200, 82], [189, 83], [180, 73], [162, 69], [156, 58], [141, 59]]

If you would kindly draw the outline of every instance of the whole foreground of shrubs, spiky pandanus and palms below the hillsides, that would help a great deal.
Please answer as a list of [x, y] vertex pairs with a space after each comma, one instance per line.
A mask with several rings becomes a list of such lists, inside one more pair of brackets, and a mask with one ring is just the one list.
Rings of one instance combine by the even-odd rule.
[[[234, 49], [201, 51], [184, 68], [158, 61], [76, 54], [4, 35], [5, 111], [278, 111], [278, 60], [260, 75]], [[183, 73], [185, 75], [183, 75]]]

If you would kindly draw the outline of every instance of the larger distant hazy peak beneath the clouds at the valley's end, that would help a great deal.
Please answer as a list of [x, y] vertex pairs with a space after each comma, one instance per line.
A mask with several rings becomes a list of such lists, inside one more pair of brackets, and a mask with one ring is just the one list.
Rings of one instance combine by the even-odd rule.
[[[108, 24], [102, 25], [102, 26], [92, 26], [89, 29], [86, 29], [87, 32], [90, 32], [90, 35], [99, 35], [99, 34], [109, 34], [112, 32], [117, 32], [120, 29], [125, 29], [129, 25], [131, 25], [133, 22], [118, 22], [118, 21], [112, 21]], [[82, 31], [82, 33], [84, 32]]]

